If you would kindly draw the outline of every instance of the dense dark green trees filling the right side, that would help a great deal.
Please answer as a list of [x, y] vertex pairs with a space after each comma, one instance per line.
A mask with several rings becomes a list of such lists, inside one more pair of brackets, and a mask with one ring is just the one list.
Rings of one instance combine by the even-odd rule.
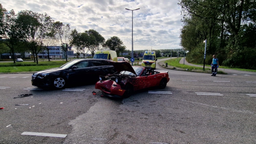
[[189, 51], [187, 60], [206, 63], [217, 55], [221, 65], [256, 69], [255, 0], [179, 0], [184, 25], [180, 45]]

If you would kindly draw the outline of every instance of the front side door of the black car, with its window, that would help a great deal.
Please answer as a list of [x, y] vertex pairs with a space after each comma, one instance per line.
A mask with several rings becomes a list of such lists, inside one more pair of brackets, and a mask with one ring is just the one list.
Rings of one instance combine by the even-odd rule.
[[[70, 69], [69, 71], [69, 81], [74, 84], [84, 84], [91, 80], [91, 68], [89, 67], [89, 61], [81, 61], [79, 63], [74, 64], [76, 69]], [[72, 66], [72, 67], [73, 67]]]

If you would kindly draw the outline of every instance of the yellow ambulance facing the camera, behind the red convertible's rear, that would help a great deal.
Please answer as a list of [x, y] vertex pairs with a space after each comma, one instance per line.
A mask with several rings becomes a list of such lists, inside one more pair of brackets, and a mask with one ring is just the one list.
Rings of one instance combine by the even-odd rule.
[[143, 55], [141, 66], [152, 67], [156, 69], [156, 53], [155, 52], [145, 52]]

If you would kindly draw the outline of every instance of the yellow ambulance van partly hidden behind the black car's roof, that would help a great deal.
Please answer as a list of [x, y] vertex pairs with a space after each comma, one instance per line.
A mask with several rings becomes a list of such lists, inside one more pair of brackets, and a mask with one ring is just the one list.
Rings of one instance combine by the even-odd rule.
[[112, 50], [99, 50], [95, 52], [94, 59], [109, 59], [117, 62], [117, 54]]

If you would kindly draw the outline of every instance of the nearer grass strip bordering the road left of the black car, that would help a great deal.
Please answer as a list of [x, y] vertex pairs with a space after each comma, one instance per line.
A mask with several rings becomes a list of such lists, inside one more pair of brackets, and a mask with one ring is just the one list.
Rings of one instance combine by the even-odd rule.
[[56, 68], [60, 65], [49, 66], [25, 66], [25, 67], [0, 67], [0, 73], [13, 73], [13, 72], [35, 72], [50, 68]]

